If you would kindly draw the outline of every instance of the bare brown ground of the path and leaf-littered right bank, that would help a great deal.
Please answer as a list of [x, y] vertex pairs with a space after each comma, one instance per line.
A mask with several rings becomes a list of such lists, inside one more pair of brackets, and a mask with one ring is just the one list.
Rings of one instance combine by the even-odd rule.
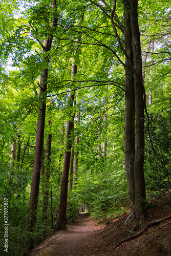
[[[67, 225], [67, 230], [55, 232], [35, 247], [31, 256], [171, 255], [171, 219], [150, 227], [138, 238], [113, 249], [117, 243], [131, 235], [126, 230], [131, 230], [134, 222], [120, 229], [128, 214], [111, 220], [108, 225], [98, 225], [88, 214], [79, 214], [75, 223]], [[148, 214], [144, 226], [171, 215], [171, 194], [163, 197], [161, 202], [152, 202]]]

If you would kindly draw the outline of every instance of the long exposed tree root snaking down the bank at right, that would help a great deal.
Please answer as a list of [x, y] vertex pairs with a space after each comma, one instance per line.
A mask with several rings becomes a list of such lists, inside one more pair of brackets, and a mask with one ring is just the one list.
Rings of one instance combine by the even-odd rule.
[[163, 218], [163, 219], [160, 219], [160, 220], [156, 220], [156, 221], [152, 221], [152, 222], [149, 222], [142, 230], [140, 230], [139, 232], [137, 232], [136, 234], [133, 234], [131, 237], [129, 238], [125, 238], [123, 239], [122, 241], [120, 241], [118, 244], [116, 244], [111, 250], [114, 250], [116, 249], [119, 245], [127, 242], [127, 241], [130, 241], [130, 240], [133, 240], [139, 236], [141, 236], [141, 234], [145, 233], [149, 228], [151, 228], [152, 226], [154, 225], [158, 225], [161, 221], [166, 221], [166, 220], [169, 220], [171, 219], [171, 215]]

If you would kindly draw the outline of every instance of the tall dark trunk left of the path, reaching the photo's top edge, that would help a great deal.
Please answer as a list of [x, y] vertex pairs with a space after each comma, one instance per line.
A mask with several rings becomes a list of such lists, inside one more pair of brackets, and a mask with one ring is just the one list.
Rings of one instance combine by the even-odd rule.
[[[53, 8], [56, 10], [56, 0], [53, 0]], [[56, 15], [56, 14], [54, 14]], [[51, 28], [56, 27], [57, 18], [54, 17]], [[44, 53], [50, 51], [52, 46], [53, 36], [48, 37], [45, 40]], [[49, 56], [46, 54], [44, 61], [49, 64]], [[39, 193], [39, 181], [40, 181], [40, 169], [41, 169], [41, 157], [42, 147], [44, 145], [44, 129], [45, 129], [45, 114], [46, 114], [46, 90], [47, 90], [47, 79], [48, 79], [48, 68], [46, 68], [40, 77], [40, 90], [39, 95], [41, 96], [41, 103], [38, 110], [37, 120], [37, 133], [36, 133], [36, 146], [35, 146], [35, 157], [33, 165], [33, 176], [30, 193], [29, 213], [28, 221], [26, 226], [26, 240], [25, 245], [29, 247], [29, 250], [33, 248], [33, 240], [29, 238], [29, 233], [33, 232], [36, 222], [37, 202]]]

